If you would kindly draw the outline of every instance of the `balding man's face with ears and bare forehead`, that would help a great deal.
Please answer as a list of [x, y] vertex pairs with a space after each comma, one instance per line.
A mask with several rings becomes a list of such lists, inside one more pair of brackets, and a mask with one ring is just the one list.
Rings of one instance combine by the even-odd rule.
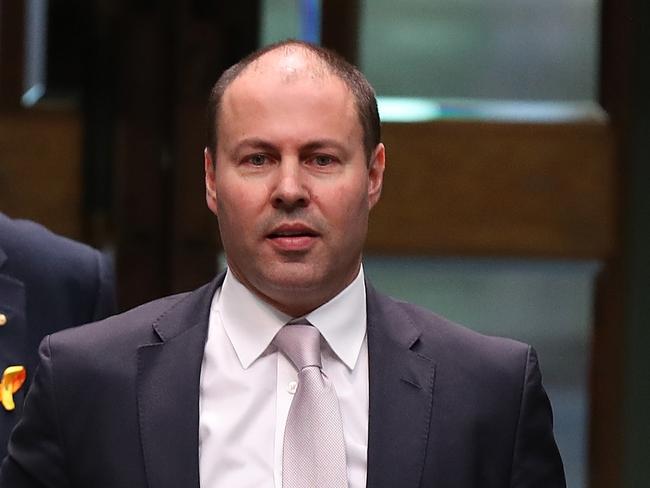
[[305, 314], [356, 276], [384, 148], [370, 164], [347, 86], [300, 53], [268, 53], [226, 90], [207, 202], [228, 265], [285, 313]]

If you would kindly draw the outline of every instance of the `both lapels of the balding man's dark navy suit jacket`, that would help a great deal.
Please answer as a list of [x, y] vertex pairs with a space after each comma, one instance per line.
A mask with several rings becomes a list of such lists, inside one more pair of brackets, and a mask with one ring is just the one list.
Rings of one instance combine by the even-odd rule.
[[[138, 348], [138, 417], [149, 488], [199, 487], [199, 382], [212, 296], [188, 295], [154, 325], [159, 342]], [[435, 365], [412, 350], [408, 315], [366, 284], [369, 425], [367, 486], [419, 486]]]

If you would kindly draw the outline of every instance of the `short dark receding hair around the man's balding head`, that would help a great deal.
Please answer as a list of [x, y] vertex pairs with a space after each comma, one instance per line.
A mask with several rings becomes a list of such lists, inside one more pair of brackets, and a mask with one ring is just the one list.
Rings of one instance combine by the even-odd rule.
[[235, 81], [252, 62], [256, 61], [264, 54], [275, 51], [279, 48], [290, 48], [292, 46], [303, 48], [316, 55], [318, 59], [325, 64], [329, 71], [340, 78], [350, 89], [357, 105], [359, 121], [361, 122], [361, 128], [363, 130], [363, 146], [368, 159], [370, 159], [372, 151], [377, 147], [377, 144], [379, 144], [381, 137], [379, 111], [377, 110], [375, 90], [372, 88], [363, 73], [339, 54], [322, 46], [295, 39], [288, 39], [275, 44], [270, 44], [253, 52], [237, 64], [228, 68], [219, 77], [212, 87], [210, 97], [208, 98], [208, 150], [212, 153], [213, 157], [216, 156], [219, 111], [221, 109], [223, 95], [230, 84]]

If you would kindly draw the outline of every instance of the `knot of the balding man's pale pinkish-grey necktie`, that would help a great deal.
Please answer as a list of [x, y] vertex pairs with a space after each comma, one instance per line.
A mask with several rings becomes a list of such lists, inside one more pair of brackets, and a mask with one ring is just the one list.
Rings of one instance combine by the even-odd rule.
[[318, 329], [306, 320], [289, 322], [275, 335], [273, 344], [282, 351], [298, 371], [309, 366], [321, 368], [321, 335]]

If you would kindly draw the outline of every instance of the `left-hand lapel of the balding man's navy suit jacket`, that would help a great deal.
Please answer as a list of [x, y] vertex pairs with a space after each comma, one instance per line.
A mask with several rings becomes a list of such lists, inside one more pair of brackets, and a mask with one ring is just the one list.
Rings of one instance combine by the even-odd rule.
[[149, 488], [199, 487], [199, 383], [210, 303], [223, 275], [153, 325], [138, 348], [138, 417]]

